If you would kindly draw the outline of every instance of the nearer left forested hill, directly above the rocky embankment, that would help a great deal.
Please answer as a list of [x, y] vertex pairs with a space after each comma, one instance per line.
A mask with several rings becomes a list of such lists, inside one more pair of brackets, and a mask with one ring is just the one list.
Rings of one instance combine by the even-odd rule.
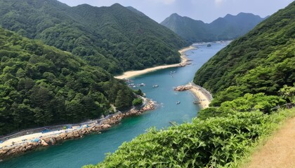
[[0, 28], [0, 135], [75, 123], [131, 106], [133, 93], [70, 52]]

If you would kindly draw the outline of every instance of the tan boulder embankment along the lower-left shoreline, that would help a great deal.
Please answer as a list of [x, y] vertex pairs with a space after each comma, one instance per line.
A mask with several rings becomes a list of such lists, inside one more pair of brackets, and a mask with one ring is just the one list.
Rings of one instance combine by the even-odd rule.
[[63, 132], [60, 132], [58, 134], [53, 134], [48, 137], [40, 137], [40, 139], [36, 142], [27, 141], [22, 144], [15, 144], [13, 146], [0, 148], [0, 160], [11, 158], [16, 155], [22, 155], [24, 153], [27, 153], [28, 151], [34, 151], [37, 150], [37, 148], [42, 148], [44, 146], [53, 146], [55, 144], [60, 144], [66, 140], [79, 139], [87, 134], [100, 134], [102, 131], [110, 129], [110, 127], [112, 127], [113, 125], [119, 124], [124, 117], [138, 116], [145, 111], [150, 111], [153, 109], [155, 109], [155, 102], [153, 102], [152, 100], [148, 100], [147, 104], [145, 104], [145, 106], [140, 109], [136, 109], [134, 107], [126, 113], [117, 113], [116, 115], [107, 118], [100, 123], [90, 124], [89, 127], [82, 127], [81, 129], [72, 130], [70, 132], [67, 132], [67, 130], [63, 130]]

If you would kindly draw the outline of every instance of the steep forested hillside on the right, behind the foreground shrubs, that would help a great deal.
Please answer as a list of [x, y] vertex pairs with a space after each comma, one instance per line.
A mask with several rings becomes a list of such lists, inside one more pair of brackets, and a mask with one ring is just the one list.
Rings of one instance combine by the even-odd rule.
[[245, 93], [277, 95], [295, 82], [294, 27], [293, 2], [218, 52], [197, 71], [194, 83], [215, 94], [212, 106]]

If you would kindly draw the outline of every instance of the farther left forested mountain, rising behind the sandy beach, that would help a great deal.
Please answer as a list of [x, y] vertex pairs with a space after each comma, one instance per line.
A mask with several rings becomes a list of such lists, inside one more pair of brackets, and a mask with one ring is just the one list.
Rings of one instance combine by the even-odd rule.
[[0, 25], [113, 74], [179, 62], [177, 50], [185, 45], [173, 31], [118, 3], [98, 8], [56, 0], [0, 0]]

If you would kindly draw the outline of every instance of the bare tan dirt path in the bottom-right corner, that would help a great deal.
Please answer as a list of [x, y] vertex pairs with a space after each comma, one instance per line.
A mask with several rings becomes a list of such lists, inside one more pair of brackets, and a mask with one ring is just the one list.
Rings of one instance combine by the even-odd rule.
[[295, 167], [295, 118], [291, 118], [252, 155], [249, 168]]

